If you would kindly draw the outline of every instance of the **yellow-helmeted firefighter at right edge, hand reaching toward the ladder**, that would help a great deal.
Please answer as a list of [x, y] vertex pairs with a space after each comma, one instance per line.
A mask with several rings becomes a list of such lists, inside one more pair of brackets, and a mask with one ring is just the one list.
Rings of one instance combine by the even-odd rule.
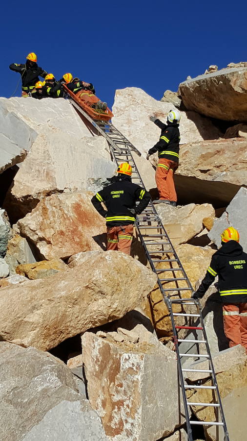
[[222, 247], [212, 256], [206, 276], [193, 298], [202, 298], [218, 275], [229, 346], [242, 344], [247, 352], [247, 253], [238, 243], [239, 233], [235, 228], [226, 228], [221, 240]]

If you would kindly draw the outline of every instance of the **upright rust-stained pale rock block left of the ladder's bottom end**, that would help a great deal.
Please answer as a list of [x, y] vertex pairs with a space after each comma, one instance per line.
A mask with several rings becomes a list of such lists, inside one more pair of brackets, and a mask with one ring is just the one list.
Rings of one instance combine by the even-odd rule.
[[83, 334], [89, 401], [110, 440], [155, 441], [180, 423], [176, 355], [142, 325], [131, 332], [136, 343], [120, 332]]

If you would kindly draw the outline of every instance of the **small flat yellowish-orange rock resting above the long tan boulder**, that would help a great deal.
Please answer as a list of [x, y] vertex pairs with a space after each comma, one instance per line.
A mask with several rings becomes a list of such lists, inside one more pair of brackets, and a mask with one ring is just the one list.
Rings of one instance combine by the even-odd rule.
[[41, 260], [33, 264], [18, 265], [17, 274], [27, 277], [30, 280], [45, 279], [59, 271], [66, 271], [67, 265], [62, 259]]

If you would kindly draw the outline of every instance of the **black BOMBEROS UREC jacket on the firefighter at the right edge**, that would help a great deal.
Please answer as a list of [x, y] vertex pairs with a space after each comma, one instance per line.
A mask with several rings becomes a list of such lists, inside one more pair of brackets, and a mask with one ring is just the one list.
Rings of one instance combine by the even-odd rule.
[[236, 241], [224, 243], [212, 256], [206, 276], [196, 291], [200, 298], [206, 293], [217, 275], [222, 302], [247, 302], [247, 253]]

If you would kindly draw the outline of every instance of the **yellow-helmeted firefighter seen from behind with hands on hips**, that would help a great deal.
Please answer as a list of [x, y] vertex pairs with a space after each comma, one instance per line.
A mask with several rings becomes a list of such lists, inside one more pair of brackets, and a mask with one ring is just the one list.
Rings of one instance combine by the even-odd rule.
[[[131, 182], [131, 174], [131, 166], [124, 162], [118, 168], [114, 183], [92, 198], [92, 204], [106, 219], [107, 250], [119, 250], [125, 254], [130, 254], [136, 215], [142, 213], [151, 199], [146, 190]], [[136, 201], [140, 201], [137, 207]]]

